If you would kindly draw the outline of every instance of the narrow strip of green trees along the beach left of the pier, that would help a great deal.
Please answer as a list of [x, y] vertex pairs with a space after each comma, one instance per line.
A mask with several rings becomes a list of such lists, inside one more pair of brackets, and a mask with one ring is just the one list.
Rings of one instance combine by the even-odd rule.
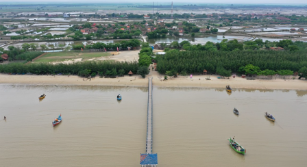
[[79, 75], [88, 77], [93, 73], [98, 73], [101, 76], [114, 76], [127, 74], [130, 70], [132, 73], [137, 73], [137, 62], [77, 62], [74, 64], [21, 64], [10, 63], [0, 66], [0, 73], [16, 73], [26, 74], [32, 73], [36, 75], [55, 75], [62, 73], [64, 75]]

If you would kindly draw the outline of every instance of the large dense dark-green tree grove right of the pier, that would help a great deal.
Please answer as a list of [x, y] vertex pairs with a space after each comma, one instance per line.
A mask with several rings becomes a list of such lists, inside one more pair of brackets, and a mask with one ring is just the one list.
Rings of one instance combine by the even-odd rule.
[[[239, 68], [254, 64], [260, 70], [298, 71], [307, 67], [306, 51], [168, 51], [157, 57], [159, 73], [175, 70], [177, 73], [216, 73], [218, 67], [232, 72], [243, 72]], [[242, 70], [242, 68], [241, 68]]]

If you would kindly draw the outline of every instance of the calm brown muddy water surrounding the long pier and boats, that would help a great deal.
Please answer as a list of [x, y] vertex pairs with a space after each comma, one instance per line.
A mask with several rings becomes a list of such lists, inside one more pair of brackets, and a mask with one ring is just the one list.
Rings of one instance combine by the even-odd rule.
[[[0, 85], [0, 104], [0, 166], [140, 166], [147, 88]], [[306, 108], [307, 91], [154, 87], [153, 153], [162, 167], [306, 166]]]

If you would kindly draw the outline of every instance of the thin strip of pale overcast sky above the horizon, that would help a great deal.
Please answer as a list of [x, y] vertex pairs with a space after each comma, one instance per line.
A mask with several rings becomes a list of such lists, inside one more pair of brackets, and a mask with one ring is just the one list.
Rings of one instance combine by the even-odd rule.
[[[171, 3], [172, 0], [170, 0], [169, 2]], [[84, 0], [1, 0], [0, 3], [12, 3], [12, 2], [38, 2], [38, 3], [56, 3], [56, 2], [60, 2], [60, 3], [89, 3], [89, 2], [99, 2], [99, 3], [114, 3], [113, 1], [103, 1], [103, 0], [88, 0], [88, 1], [84, 1]], [[127, 1], [127, 0], [117, 0], [116, 2], [125, 2], [125, 3], [151, 3], [152, 1], [144, 1], [144, 0], [131, 0], [131, 1]], [[164, 1], [164, 0], [154, 0], [154, 2], [160, 2], [160, 3], [167, 3], [168, 1]], [[173, 3], [212, 3], [214, 1], [209, 1], [209, 0], [173, 0]], [[245, 0], [219, 0], [216, 1], [215, 3], [255, 3], [255, 4], [280, 4], [280, 3], [301, 3], [301, 4], [307, 4], [307, 0], [257, 0], [257, 1], [245, 1]]]

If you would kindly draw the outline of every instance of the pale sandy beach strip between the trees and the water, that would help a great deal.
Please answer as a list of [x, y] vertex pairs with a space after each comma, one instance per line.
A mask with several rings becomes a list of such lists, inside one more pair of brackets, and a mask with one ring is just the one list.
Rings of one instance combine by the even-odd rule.
[[[211, 80], [206, 80], [209, 77]], [[116, 78], [95, 77], [86, 79], [77, 75], [6, 75], [0, 74], [1, 85], [36, 85], [36, 86], [119, 86], [147, 87], [148, 77], [153, 77], [153, 86], [160, 88], [225, 88], [255, 90], [307, 90], [307, 81], [299, 79], [256, 79], [247, 80], [241, 77], [217, 79], [218, 75], [179, 76], [163, 81], [164, 75], [151, 71], [145, 79], [140, 75], [125, 75]]]

